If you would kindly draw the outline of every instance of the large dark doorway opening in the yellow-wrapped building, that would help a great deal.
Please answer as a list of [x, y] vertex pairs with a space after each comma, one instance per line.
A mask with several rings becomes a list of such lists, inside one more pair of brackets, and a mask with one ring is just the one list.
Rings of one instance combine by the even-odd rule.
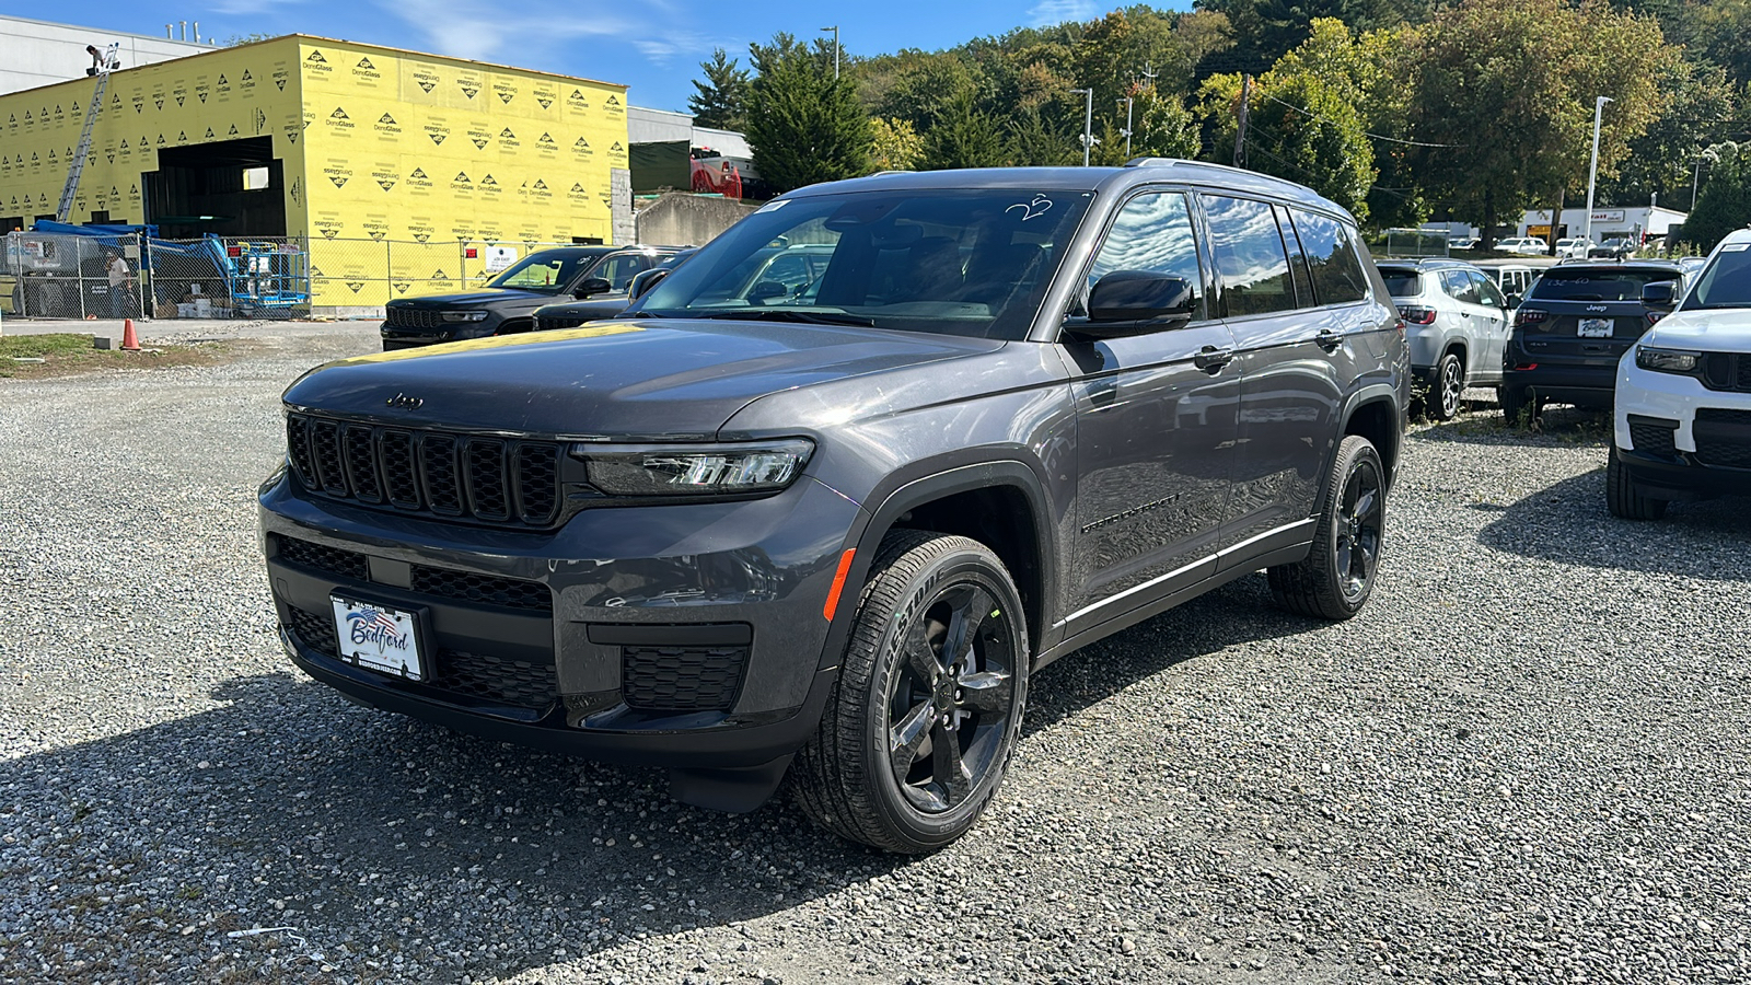
[[145, 179], [145, 221], [161, 237], [285, 235], [285, 168], [271, 137], [165, 147]]

